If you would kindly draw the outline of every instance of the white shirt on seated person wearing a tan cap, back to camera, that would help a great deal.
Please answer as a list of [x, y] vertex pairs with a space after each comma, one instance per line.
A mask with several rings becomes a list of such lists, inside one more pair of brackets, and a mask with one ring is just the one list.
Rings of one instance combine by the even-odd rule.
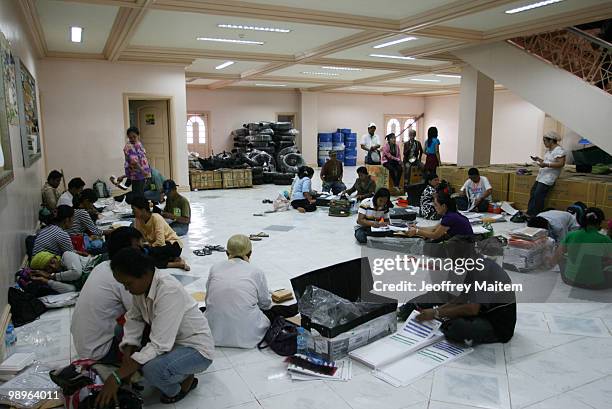
[[213, 265], [206, 282], [206, 318], [215, 345], [254, 348], [270, 327], [261, 312], [272, 306], [266, 276], [233, 258]]

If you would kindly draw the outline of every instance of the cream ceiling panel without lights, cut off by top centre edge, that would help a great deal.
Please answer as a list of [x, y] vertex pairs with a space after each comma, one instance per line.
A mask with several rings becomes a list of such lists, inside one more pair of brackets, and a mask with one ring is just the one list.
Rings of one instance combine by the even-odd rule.
[[249, 2], [399, 20], [453, 3], [454, 0], [249, 0]]

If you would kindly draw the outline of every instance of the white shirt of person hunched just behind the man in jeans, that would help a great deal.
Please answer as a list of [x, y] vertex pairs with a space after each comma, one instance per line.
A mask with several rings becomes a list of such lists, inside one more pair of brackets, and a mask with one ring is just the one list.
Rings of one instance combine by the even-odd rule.
[[113, 342], [115, 321], [132, 306], [132, 295], [113, 277], [110, 261], [87, 277], [72, 313], [70, 332], [79, 358], [101, 359]]

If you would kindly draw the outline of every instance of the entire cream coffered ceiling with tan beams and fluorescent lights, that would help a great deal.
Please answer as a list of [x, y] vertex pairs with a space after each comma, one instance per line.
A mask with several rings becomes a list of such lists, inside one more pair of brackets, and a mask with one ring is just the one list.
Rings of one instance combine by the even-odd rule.
[[19, 2], [40, 58], [177, 64], [188, 87], [383, 95], [457, 92], [454, 50], [612, 17], [610, 0]]

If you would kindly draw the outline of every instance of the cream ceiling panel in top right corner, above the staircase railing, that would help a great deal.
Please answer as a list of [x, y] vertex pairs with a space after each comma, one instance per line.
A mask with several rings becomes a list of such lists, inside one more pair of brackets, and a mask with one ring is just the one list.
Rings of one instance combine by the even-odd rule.
[[537, 3], [537, 0], [521, 0], [515, 3], [509, 3], [504, 6], [483, 11], [481, 13], [475, 13], [457, 18], [455, 20], [447, 21], [444, 23], [444, 25], [457, 28], [488, 31], [514, 24], [527, 23], [530, 20], [551, 17], [556, 14], [578, 11], [591, 6], [609, 4], [610, 0], [563, 0], [559, 3], [553, 3], [545, 7], [523, 11], [520, 13], [505, 13], [506, 10], [526, 6], [532, 3]]

